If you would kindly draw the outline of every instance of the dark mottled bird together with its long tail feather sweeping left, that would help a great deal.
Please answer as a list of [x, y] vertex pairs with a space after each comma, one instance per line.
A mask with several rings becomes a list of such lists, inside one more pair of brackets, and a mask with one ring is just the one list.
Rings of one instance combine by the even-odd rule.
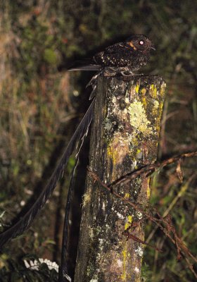
[[[145, 35], [133, 35], [125, 42], [113, 44], [112, 46], [107, 47], [104, 51], [96, 54], [89, 60], [87, 65], [71, 68], [70, 71], [98, 71], [98, 73], [94, 75], [89, 82], [89, 85], [93, 87], [91, 94], [92, 97], [96, 90], [96, 78], [98, 75], [102, 73], [104, 75], [115, 75], [117, 73], [122, 75], [134, 75], [134, 71], [139, 70], [148, 62], [151, 49], [154, 49], [154, 47], [148, 37]], [[18, 235], [21, 235], [27, 228], [30, 227], [34, 217], [37, 215], [39, 210], [42, 209], [46, 200], [48, 200], [51, 196], [53, 190], [56, 188], [58, 179], [63, 175], [65, 165], [68, 163], [70, 155], [76, 149], [77, 142], [79, 142], [79, 140], [83, 140], [87, 134], [89, 125], [94, 116], [94, 102], [95, 99], [91, 102], [87, 113], [84, 115], [80, 125], [78, 125], [77, 130], [75, 130], [75, 133], [72, 135], [61, 160], [58, 162], [51, 178], [49, 179], [49, 183], [41, 192], [30, 210], [17, 223], [3, 233], [0, 233], [0, 250], [6, 242]]]

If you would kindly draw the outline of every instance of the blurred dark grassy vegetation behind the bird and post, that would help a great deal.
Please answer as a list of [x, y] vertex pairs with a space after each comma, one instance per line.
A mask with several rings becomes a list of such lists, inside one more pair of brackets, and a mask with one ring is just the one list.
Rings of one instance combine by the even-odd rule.
[[[3, 226], [16, 214], [23, 214], [44, 188], [89, 104], [85, 85], [91, 73], [67, 73], [66, 68], [133, 33], [147, 35], [157, 49], [143, 73], [162, 75], [167, 82], [159, 158], [196, 149], [196, 1], [1, 0], [0, 7]], [[84, 171], [87, 148], [80, 161]], [[197, 240], [196, 163], [196, 158], [182, 163], [183, 182], [176, 166], [153, 176], [151, 197], [151, 204], [161, 214], [170, 212], [179, 237], [193, 255]], [[27, 281], [30, 274], [23, 276], [24, 257], [60, 261], [63, 208], [73, 164], [74, 157], [32, 227], [4, 247], [0, 281]], [[82, 193], [84, 172], [78, 177], [75, 182]], [[80, 216], [75, 216], [79, 224]], [[146, 247], [142, 281], [195, 281], [184, 260], [177, 262], [174, 246], [158, 230], [151, 235], [153, 229], [147, 223], [146, 238], [164, 252], [158, 254]], [[71, 264], [71, 272], [73, 267]], [[29, 281], [41, 281], [35, 277]]]

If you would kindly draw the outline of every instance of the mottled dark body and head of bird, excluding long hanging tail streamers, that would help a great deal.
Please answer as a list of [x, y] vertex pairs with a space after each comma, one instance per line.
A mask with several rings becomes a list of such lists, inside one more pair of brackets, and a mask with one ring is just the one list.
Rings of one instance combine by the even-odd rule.
[[105, 68], [105, 73], [109, 75], [134, 74], [134, 71], [146, 65], [151, 49], [155, 50], [148, 37], [133, 35], [125, 42], [113, 44], [97, 53], [87, 65], [70, 68], [69, 71], [101, 71]]

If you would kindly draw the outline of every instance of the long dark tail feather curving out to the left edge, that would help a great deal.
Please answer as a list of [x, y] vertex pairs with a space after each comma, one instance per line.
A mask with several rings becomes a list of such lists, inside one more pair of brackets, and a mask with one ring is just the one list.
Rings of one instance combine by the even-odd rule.
[[42, 207], [46, 203], [46, 200], [48, 200], [51, 196], [53, 190], [56, 188], [58, 179], [63, 175], [65, 165], [68, 163], [70, 155], [75, 150], [77, 142], [87, 134], [87, 130], [94, 116], [94, 103], [95, 99], [91, 102], [87, 113], [84, 115], [84, 118], [82, 118], [80, 125], [78, 125], [75, 133], [72, 135], [68, 146], [63, 152], [61, 160], [59, 161], [58, 165], [53, 171], [51, 178], [49, 179], [49, 183], [39, 195], [36, 202], [34, 202], [30, 210], [25, 214], [25, 216], [23, 216], [22, 219], [20, 219], [17, 223], [15, 223], [3, 233], [0, 233], [0, 249], [9, 240], [17, 237], [18, 235], [21, 235], [27, 228], [30, 227], [32, 221], [34, 220], [34, 217], [38, 214], [39, 210], [42, 209]]

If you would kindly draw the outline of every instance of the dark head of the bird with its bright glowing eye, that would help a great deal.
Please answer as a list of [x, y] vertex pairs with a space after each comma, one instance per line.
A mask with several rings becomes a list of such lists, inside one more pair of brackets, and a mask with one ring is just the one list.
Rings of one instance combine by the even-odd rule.
[[155, 50], [152, 42], [145, 35], [133, 35], [126, 40], [134, 51], [141, 51], [143, 53], [149, 52], [151, 49]]

